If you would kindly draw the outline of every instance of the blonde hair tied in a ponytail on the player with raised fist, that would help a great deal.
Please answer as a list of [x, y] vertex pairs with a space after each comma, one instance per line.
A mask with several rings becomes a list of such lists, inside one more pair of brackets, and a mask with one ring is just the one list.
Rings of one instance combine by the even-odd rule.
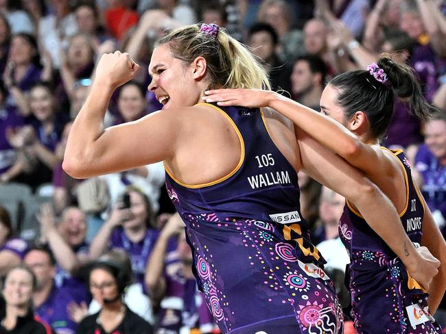
[[200, 31], [199, 25], [186, 25], [170, 31], [156, 46], [168, 44], [174, 57], [191, 64], [204, 57], [212, 88], [270, 89], [265, 68], [246, 47], [222, 28], [216, 38]]

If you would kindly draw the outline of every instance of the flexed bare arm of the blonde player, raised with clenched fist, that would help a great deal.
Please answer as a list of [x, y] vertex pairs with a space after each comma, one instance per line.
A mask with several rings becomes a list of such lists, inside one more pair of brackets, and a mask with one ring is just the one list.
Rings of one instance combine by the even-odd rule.
[[62, 166], [72, 177], [129, 170], [172, 157], [179, 128], [172, 110], [108, 129], [103, 127], [110, 97], [117, 87], [132, 79], [138, 67], [126, 53], [102, 55], [89, 96], [67, 141]]

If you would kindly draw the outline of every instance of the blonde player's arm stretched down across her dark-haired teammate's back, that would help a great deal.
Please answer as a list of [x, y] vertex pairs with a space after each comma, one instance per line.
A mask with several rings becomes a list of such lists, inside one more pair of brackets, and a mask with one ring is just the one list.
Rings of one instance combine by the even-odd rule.
[[323, 185], [348, 198], [366, 222], [403, 261], [410, 275], [426, 290], [438, 273], [438, 260], [420, 255], [406, 235], [390, 200], [338, 155], [328, 151], [307, 133], [296, 128], [303, 170]]

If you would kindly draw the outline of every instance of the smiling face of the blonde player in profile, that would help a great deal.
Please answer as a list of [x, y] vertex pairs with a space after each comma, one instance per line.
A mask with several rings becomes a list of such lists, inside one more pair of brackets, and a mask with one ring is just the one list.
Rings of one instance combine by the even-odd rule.
[[149, 71], [152, 82], [148, 89], [154, 92], [163, 109], [191, 106], [200, 100], [201, 89], [193, 78], [193, 66], [174, 57], [168, 44], [154, 49]]

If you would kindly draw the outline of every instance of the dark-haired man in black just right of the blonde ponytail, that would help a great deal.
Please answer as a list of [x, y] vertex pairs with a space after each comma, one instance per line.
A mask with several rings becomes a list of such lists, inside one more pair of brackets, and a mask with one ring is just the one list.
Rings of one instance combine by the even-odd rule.
[[290, 92], [291, 63], [279, 59], [276, 53], [278, 36], [274, 29], [266, 23], [255, 23], [248, 31], [248, 46], [260, 57], [268, 71], [272, 90]]

